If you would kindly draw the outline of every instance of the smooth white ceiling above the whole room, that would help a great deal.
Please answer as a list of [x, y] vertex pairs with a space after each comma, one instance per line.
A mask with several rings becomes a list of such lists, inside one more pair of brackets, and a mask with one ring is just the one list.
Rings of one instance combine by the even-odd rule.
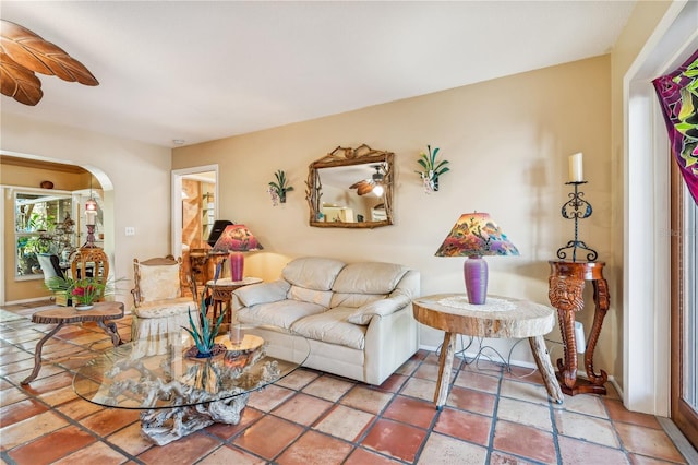
[[8, 1], [99, 85], [2, 111], [174, 146], [607, 53], [635, 1]]

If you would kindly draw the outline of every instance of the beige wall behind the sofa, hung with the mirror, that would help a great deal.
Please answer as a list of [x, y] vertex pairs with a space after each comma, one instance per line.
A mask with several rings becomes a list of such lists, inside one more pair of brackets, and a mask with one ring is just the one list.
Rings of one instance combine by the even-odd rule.
[[[575, 152], [585, 153], [583, 191], [594, 208], [580, 224], [580, 239], [600, 260], [611, 258], [610, 99], [604, 56], [176, 148], [172, 168], [219, 165], [220, 218], [246, 224], [265, 247], [248, 257], [246, 274], [273, 279], [288, 258], [317, 254], [404, 263], [422, 273], [424, 295], [462, 291], [462, 260], [434, 252], [458, 216], [477, 210], [491, 213], [521, 252], [488, 259], [491, 293], [547, 302], [547, 260], [574, 237], [574, 223], [559, 211]], [[310, 227], [308, 165], [337, 145], [361, 143], [396, 154], [395, 225]], [[414, 172], [426, 144], [441, 147], [452, 168], [433, 194]], [[296, 190], [275, 207], [266, 189], [277, 169]], [[422, 343], [436, 346], [440, 337], [425, 330]], [[557, 332], [552, 337], [559, 339]], [[602, 341], [600, 366], [616, 357], [611, 342]], [[515, 357], [528, 359], [528, 348], [519, 345]]]

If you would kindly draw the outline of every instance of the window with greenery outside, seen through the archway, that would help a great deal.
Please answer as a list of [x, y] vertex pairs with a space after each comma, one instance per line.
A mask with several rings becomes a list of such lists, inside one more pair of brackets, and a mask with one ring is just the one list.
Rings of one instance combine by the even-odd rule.
[[70, 194], [52, 191], [14, 194], [15, 278], [43, 278], [38, 253], [61, 255], [74, 250], [72, 213]]

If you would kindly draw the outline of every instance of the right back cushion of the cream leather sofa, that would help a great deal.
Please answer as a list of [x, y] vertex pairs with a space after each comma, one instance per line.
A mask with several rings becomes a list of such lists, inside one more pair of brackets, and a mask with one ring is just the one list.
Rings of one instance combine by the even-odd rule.
[[408, 269], [394, 263], [351, 263], [337, 275], [332, 290], [349, 294], [389, 294]]

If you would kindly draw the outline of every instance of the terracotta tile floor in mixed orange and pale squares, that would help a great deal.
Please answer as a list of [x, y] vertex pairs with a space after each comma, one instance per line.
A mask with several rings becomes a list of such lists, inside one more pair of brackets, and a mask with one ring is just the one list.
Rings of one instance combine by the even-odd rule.
[[[44, 302], [48, 305], [48, 302]], [[382, 386], [299, 369], [250, 396], [240, 425], [213, 425], [165, 446], [140, 434], [134, 410], [77, 397], [72, 372], [110, 342], [68, 325], [44, 347], [31, 386], [37, 305], [0, 309], [0, 457], [7, 464], [677, 464], [657, 418], [617, 394], [551, 404], [538, 373], [460, 363], [448, 403], [432, 397], [435, 354], [420, 350]], [[129, 339], [131, 320], [118, 322]]]

